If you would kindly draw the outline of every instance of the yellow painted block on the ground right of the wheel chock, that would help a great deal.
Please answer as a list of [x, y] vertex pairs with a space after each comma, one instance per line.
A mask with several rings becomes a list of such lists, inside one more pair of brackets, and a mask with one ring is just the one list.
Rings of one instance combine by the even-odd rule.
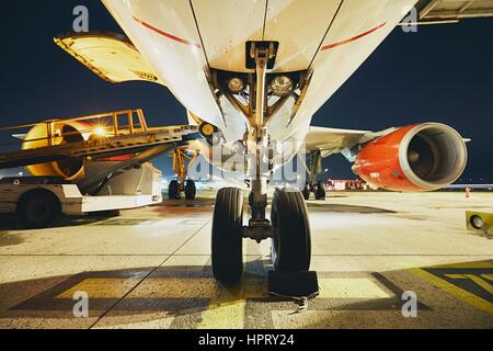
[[392, 297], [371, 279], [319, 279], [321, 298], [389, 298]]

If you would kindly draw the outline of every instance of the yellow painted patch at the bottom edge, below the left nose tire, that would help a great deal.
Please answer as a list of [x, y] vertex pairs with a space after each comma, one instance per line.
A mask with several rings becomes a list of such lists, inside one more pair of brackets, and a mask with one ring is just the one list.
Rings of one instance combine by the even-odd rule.
[[198, 329], [243, 329], [244, 299], [232, 303], [213, 303], [202, 313]]

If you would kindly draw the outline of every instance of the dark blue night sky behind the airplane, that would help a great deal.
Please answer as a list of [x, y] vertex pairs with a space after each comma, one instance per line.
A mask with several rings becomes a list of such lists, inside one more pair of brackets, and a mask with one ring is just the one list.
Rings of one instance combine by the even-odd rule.
[[[0, 126], [125, 109], [144, 109], [152, 126], [185, 124], [167, 88], [104, 82], [53, 43], [85, 4], [90, 30], [121, 32], [100, 1], [9, 1], [2, 4]], [[442, 122], [469, 144], [463, 180], [493, 181], [493, 19], [400, 29], [319, 111], [313, 125], [380, 131]], [[330, 78], [328, 78], [330, 79]], [[157, 162], [171, 174], [170, 160]], [[325, 160], [334, 179], [354, 178], [341, 156]]]

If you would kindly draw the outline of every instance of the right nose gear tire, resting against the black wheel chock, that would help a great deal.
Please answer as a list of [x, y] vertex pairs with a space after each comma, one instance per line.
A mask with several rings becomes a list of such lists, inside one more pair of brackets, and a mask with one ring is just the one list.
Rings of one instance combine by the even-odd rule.
[[308, 208], [299, 191], [276, 189], [271, 212], [274, 238], [272, 260], [276, 271], [310, 269], [311, 234]]

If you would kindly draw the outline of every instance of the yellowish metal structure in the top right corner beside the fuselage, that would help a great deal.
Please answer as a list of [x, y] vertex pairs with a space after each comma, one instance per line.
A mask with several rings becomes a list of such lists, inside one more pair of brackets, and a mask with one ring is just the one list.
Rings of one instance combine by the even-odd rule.
[[422, 24], [455, 23], [493, 16], [493, 0], [420, 0], [416, 10]]

